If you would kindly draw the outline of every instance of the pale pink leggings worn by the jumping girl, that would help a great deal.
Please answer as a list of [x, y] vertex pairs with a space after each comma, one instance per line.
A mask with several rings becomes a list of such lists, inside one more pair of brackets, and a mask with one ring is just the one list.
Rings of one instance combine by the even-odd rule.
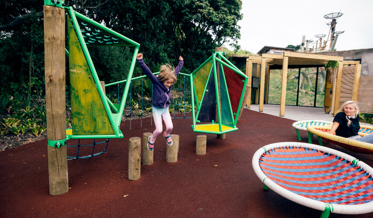
[[153, 135], [152, 135], [152, 141], [153, 140], [155, 141], [157, 136], [161, 134], [163, 131], [162, 118], [166, 125], [165, 135], [166, 136], [170, 135], [172, 128], [173, 128], [173, 124], [172, 124], [172, 120], [171, 120], [168, 107], [158, 108], [158, 107], [152, 106], [152, 112], [153, 112], [154, 124], [156, 125], [156, 130], [154, 130]]

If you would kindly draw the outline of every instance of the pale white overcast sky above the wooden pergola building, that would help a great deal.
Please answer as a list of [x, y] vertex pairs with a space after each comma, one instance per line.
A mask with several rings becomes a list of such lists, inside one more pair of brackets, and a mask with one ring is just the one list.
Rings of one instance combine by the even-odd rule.
[[316, 41], [316, 34], [326, 34], [330, 26], [324, 15], [341, 12], [335, 31], [339, 35], [337, 51], [373, 48], [373, 0], [243, 0], [241, 49], [256, 54], [264, 46], [300, 45]]

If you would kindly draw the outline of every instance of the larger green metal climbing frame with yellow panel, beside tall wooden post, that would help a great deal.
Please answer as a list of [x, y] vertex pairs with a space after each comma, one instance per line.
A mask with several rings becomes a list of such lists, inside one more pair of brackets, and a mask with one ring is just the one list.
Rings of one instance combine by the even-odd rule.
[[121, 138], [119, 129], [130, 83], [125, 84], [122, 100], [114, 105], [104, 94], [96, 69], [88, 52], [89, 46], [134, 47], [126, 81], [131, 81], [140, 44], [124, 37], [86, 16], [65, 8], [71, 90], [71, 134], [67, 139]]

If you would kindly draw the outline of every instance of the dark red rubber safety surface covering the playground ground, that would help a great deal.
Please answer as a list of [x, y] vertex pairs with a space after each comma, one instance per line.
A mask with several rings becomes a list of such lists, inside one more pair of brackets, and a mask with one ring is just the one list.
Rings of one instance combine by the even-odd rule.
[[[191, 117], [191, 114], [187, 114]], [[166, 162], [158, 137], [154, 163], [128, 180], [128, 140], [153, 132], [150, 118], [122, 122], [124, 138], [110, 139], [107, 152], [68, 161], [69, 191], [49, 194], [47, 139], [0, 152], [0, 217], [319, 217], [321, 211], [263, 190], [251, 159], [266, 144], [297, 141], [294, 120], [244, 110], [238, 130], [218, 139], [207, 135], [205, 155], [196, 154], [192, 119], [173, 119], [179, 135], [176, 163]], [[302, 141], [308, 134], [301, 133]], [[318, 144], [314, 137], [313, 143]], [[69, 143], [73, 144], [74, 141]], [[324, 145], [373, 166], [373, 156]], [[88, 148], [91, 150], [91, 148]], [[69, 149], [68, 149], [69, 150]], [[373, 217], [333, 214], [329, 217]]]

